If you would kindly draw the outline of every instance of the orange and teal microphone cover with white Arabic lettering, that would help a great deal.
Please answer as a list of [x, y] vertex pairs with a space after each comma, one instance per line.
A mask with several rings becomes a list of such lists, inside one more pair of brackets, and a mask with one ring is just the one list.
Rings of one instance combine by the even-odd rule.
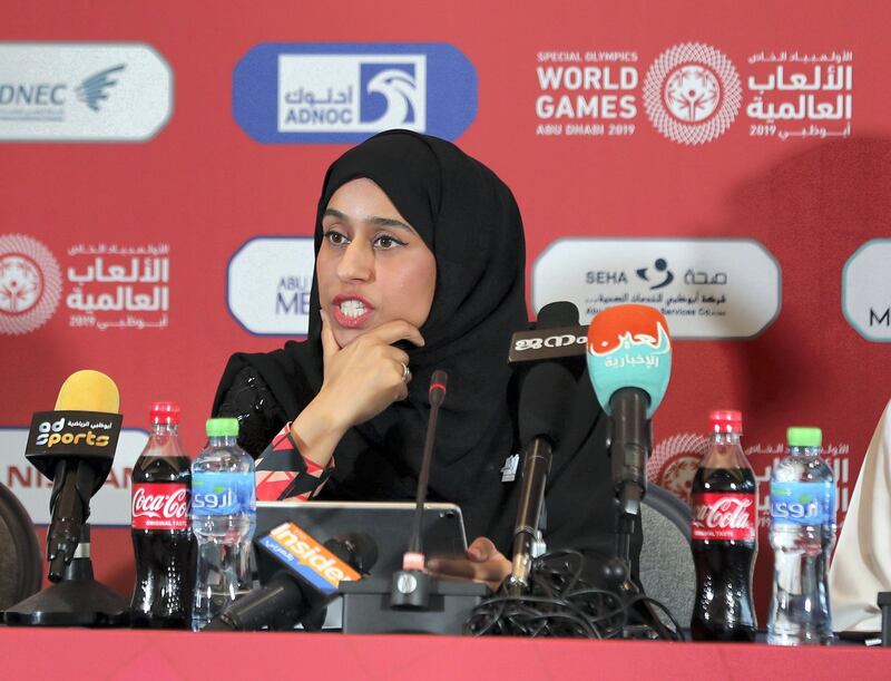
[[604, 411], [621, 388], [647, 393], [647, 418], [653, 417], [672, 376], [668, 323], [655, 308], [617, 305], [604, 310], [588, 328], [588, 373]]

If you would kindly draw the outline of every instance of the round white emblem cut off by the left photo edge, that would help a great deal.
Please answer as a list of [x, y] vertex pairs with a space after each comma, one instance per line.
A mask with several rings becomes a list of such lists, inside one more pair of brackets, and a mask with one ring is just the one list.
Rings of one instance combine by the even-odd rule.
[[61, 271], [49, 249], [23, 234], [0, 235], [0, 333], [42, 327], [61, 293]]

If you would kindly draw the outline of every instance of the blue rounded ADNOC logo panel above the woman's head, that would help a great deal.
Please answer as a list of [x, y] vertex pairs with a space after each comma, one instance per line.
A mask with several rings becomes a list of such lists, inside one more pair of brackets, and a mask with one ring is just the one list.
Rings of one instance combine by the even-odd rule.
[[257, 142], [355, 143], [390, 128], [458, 137], [477, 72], [444, 43], [265, 43], [235, 67], [233, 109]]

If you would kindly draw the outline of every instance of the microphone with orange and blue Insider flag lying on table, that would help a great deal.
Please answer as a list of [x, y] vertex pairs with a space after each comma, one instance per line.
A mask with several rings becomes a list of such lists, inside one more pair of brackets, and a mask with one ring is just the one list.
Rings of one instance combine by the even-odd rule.
[[378, 561], [378, 545], [365, 534], [321, 545], [290, 522], [255, 539], [254, 547], [261, 586], [233, 601], [202, 631], [290, 631], [301, 622], [324, 621], [340, 585], [361, 580]]

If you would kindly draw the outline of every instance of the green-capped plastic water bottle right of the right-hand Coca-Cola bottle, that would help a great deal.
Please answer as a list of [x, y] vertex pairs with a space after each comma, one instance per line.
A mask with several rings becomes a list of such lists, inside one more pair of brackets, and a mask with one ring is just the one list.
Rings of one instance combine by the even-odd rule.
[[820, 428], [790, 428], [789, 454], [771, 475], [773, 597], [767, 643], [832, 642], [829, 557], [835, 543], [835, 483], [820, 458]]

